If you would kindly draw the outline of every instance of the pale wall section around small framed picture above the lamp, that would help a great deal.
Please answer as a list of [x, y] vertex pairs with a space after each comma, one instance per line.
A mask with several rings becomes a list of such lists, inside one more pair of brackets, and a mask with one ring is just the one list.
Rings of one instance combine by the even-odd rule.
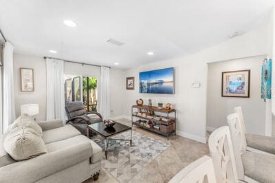
[[[34, 69], [34, 92], [21, 92], [20, 67]], [[46, 118], [46, 63], [43, 57], [14, 54], [14, 100], [16, 116], [20, 116], [20, 106], [39, 104], [38, 120]]]

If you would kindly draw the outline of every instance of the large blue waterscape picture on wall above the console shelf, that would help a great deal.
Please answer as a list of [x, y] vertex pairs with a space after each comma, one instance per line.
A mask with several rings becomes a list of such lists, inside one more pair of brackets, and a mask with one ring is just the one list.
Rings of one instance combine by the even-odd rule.
[[174, 68], [140, 72], [140, 93], [175, 94]]

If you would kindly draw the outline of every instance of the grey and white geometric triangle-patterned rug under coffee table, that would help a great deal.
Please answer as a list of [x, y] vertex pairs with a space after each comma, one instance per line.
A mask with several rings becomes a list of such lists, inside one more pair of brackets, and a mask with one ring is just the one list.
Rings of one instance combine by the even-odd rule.
[[[113, 138], [130, 139], [131, 131]], [[104, 140], [97, 142], [104, 149]], [[129, 141], [109, 139], [108, 160], [101, 160], [101, 167], [119, 182], [130, 182], [144, 167], [152, 162], [169, 144], [133, 131], [132, 147]]]

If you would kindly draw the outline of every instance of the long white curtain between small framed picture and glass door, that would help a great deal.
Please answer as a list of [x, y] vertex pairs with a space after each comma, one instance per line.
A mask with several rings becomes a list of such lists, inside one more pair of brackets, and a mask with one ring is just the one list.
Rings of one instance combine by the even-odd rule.
[[64, 61], [47, 58], [47, 120], [65, 122]]

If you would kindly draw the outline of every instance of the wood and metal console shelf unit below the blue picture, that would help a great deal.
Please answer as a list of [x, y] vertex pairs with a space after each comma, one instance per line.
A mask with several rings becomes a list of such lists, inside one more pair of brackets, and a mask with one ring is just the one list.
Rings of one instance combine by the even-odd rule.
[[[137, 111], [134, 114], [134, 109]], [[157, 116], [160, 119], [155, 119], [155, 112], [159, 113]], [[173, 117], [169, 116], [169, 114], [173, 113]], [[143, 115], [140, 115], [143, 114]], [[154, 114], [154, 115], [152, 115]], [[167, 140], [169, 136], [173, 133], [176, 134], [176, 110], [175, 109], [159, 109], [158, 107], [149, 107], [148, 105], [133, 105], [132, 106], [132, 126], [135, 125], [137, 127], [141, 127], [142, 129], [146, 129], [148, 131], [153, 131], [155, 133], [159, 133], [163, 136], [166, 136]], [[139, 120], [134, 120], [133, 118], [139, 118]], [[166, 118], [166, 120], [162, 120], [162, 118]], [[148, 125], [148, 122], [151, 122], [150, 127], [144, 126], [144, 122]], [[140, 124], [142, 123], [142, 124]], [[155, 129], [153, 125], [157, 126], [159, 129]]]

